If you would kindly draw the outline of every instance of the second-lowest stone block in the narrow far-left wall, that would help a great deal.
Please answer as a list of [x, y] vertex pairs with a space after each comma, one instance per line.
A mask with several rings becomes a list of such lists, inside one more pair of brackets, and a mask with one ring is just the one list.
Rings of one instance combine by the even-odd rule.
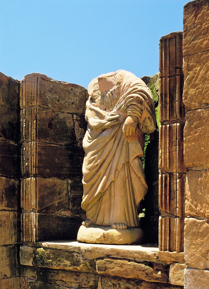
[[0, 260], [0, 279], [19, 275], [19, 257], [15, 246], [1, 246]]

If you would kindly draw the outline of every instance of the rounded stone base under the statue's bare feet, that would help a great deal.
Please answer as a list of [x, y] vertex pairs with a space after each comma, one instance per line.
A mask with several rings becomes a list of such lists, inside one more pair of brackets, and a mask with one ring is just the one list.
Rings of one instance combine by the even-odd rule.
[[141, 228], [112, 229], [111, 227], [95, 225], [81, 226], [78, 231], [77, 240], [93, 244], [120, 244], [130, 245], [140, 244], [143, 239]]

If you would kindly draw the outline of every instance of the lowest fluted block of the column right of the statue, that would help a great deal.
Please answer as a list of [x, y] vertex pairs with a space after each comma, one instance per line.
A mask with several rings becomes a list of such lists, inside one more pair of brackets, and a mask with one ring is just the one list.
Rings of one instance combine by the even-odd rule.
[[183, 252], [183, 217], [159, 217], [159, 250]]

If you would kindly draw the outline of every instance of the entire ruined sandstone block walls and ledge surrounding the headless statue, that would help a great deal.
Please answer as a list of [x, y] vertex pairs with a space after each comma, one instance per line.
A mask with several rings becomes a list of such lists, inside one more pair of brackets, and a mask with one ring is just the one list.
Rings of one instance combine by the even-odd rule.
[[157, 118], [142, 158], [146, 244], [76, 241], [87, 90], [0, 73], [0, 288], [209, 288], [209, 2], [183, 12], [183, 33], [160, 39], [159, 75], [142, 78]]

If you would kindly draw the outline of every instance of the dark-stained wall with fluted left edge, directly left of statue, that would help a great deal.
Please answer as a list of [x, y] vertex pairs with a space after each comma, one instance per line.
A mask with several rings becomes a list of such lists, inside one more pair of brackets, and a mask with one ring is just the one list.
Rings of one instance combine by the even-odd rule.
[[77, 237], [86, 97], [82, 86], [39, 73], [20, 82], [24, 243]]

